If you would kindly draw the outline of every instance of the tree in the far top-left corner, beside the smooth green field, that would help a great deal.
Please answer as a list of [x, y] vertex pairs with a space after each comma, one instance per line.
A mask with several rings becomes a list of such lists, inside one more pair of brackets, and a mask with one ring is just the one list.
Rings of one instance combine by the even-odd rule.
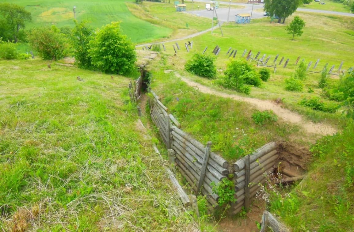
[[31, 21], [31, 19], [31, 13], [26, 11], [24, 7], [0, 3], [0, 37], [16, 43], [24, 36], [20, 29], [25, 28], [25, 22]]

